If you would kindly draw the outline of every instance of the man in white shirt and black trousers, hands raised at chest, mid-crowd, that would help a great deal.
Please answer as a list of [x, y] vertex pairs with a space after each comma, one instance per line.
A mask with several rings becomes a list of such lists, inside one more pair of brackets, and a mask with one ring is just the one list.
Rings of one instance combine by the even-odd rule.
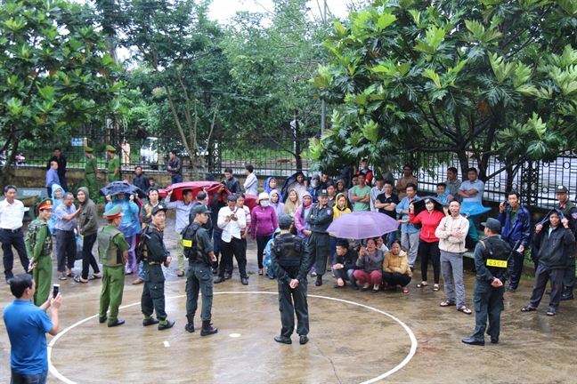
[[247, 218], [242, 208], [236, 206], [237, 196], [228, 196], [226, 199], [227, 206], [218, 211], [218, 228], [223, 229], [221, 234], [221, 252], [222, 258], [218, 269], [218, 278], [215, 284], [223, 283], [224, 272], [229, 260], [232, 260], [232, 255], [239, 264], [240, 282], [244, 285], [248, 284], [247, 275], [247, 257], [244, 254], [244, 244], [242, 243], [241, 228], [247, 226]]

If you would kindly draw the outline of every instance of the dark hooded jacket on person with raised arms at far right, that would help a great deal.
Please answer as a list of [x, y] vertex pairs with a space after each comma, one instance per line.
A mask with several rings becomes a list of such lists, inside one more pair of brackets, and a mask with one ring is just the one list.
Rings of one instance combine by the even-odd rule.
[[565, 228], [563, 223], [559, 223], [549, 233], [551, 228], [549, 216], [552, 212], [557, 212], [560, 220], [565, 219], [565, 215], [560, 210], [549, 211], [545, 219], [537, 224], [542, 225], [543, 228], [535, 234], [534, 244], [540, 265], [549, 269], [564, 269], [567, 266], [569, 254], [574, 252], [575, 236], [572, 228]]

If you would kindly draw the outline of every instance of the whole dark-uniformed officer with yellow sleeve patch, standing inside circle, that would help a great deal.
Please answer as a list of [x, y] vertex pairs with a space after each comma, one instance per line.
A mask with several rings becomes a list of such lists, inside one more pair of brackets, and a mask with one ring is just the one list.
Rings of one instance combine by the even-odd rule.
[[[184, 253], [189, 258], [188, 276], [186, 280], [186, 318], [188, 324], [184, 330], [194, 332], [194, 315], [199, 308], [199, 291], [202, 292], [202, 329], [200, 336], [208, 336], [218, 332], [212, 327], [212, 299], [213, 299], [213, 276], [211, 263], [216, 261], [213, 245], [210, 242], [210, 236], [204, 226], [208, 222], [210, 211], [204, 204], [197, 205], [194, 208], [194, 221], [190, 227], [195, 232], [192, 236], [191, 244], [184, 244]], [[183, 233], [183, 237], [187, 234]], [[186, 239], [183, 242], [187, 241]]]

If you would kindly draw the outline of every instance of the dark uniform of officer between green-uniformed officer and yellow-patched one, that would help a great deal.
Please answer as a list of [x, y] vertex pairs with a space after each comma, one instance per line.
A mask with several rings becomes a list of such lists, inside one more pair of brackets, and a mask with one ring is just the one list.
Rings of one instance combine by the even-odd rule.
[[[166, 320], [164, 282], [162, 263], [167, 261], [170, 252], [163, 241], [163, 232], [154, 224], [142, 231], [142, 241], [146, 248], [144, 265], [144, 287], [142, 288], [141, 308], [144, 316], [152, 316], [156, 311], [158, 320]], [[148, 318], [148, 317], [147, 317]]]

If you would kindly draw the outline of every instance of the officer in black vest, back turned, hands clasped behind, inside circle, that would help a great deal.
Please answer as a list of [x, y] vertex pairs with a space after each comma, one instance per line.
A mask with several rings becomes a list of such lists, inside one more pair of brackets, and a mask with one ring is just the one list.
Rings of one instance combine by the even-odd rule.
[[280, 236], [274, 239], [271, 246], [272, 270], [279, 282], [279, 310], [282, 323], [280, 336], [276, 336], [274, 340], [292, 344], [290, 335], [295, 329], [296, 313], [299, 343], [303, 345], [308, 342], [306, 335], [309, 332], [306, 274], [313, 267], [314, 259], [306, 249], [303, 239], [290, 234], [292, 223], [293, 220], [287, 213], [280, 215]]

